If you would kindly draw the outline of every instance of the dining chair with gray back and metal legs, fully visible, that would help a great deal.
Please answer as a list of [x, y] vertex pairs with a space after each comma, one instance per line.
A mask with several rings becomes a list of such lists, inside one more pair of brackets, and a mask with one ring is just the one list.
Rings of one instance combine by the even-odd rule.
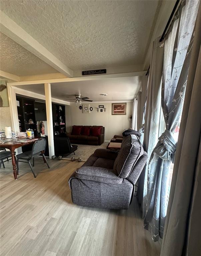
[[[46, 163], [48, 168], [50, 168], [50, 166], [48, 165], [47, 160], [45, 158], [45, 155], [44, 155], [45, 147], [46, 147], [46, 140], [44, 138], [40, 138], [33, 144], [32, 150], [26, 151], [24, 153], [21, 153], [21, 154], [17, 155], [16, 156], [17, 157], [17, 175], [19, 174], [19, 162], [23, 162], [23, 163], [28, 162], [28, 164], [31, 168], [31, 171], [32, 171], [34, 177], [36, 178], [36, 174], [33, 170], [33, 167], [34, 167], [34, 157], [38, 156], [38, 155], [43, 156], [44, 163]], [[22, 161], [21, 159], [25, 160], [25, 161]], [[31, 159], [33, 159], [33, 167], [30, 163]]]

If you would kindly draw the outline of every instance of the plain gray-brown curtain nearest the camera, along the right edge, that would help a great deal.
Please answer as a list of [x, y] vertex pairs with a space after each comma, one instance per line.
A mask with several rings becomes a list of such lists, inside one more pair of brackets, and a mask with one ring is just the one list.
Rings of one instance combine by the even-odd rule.
[[161, 256], [201, 255], [200, 35], [201, 2], [195, 26], [195, 39], [186, 84]]

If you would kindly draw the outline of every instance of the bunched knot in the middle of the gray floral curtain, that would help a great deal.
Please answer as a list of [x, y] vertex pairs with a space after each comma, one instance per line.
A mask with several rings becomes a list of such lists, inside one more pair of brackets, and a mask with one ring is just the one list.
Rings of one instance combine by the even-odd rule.
[[174, 140], [173, 133], [166, 129], [158, 139], [159, 141], [153, 151], [161, 159], [172, 159], [174, 162], [174, 153], [176, 151], [177, 142]]

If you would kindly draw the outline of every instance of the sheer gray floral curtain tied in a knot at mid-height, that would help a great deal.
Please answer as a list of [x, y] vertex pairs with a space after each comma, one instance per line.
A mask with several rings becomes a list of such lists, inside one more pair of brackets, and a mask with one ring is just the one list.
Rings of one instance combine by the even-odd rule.
[[181, 3], [164, 42], [161, 105], [166, 129], [158, 138], [148, 164], [144, 220], [144, 227], [151, 231], [154, 241], [163, 238], [170, 191], [170, 164], [174, 162], [177, 146], [174, 131], [183, 109], [198, 2]]

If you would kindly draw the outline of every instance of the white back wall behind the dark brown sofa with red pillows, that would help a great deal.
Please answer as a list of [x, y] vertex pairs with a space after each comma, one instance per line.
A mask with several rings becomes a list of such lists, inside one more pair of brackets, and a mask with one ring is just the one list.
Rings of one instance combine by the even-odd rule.
[[[100, 112], [100, 109], [97, 112], [99, 105], [104, 105], [106, 112]], [[102, 125], [105, 127], [105, 140], [110, 141], [115, 134], [122, 134], [124, 129], [131, 127], [128, 118], [132, 114], [133, 102], [127, 102], [126, 115], [112, 115], [112, 103], [90, 103], [93, 110], [88, 114], [83, 114], [79, 106], [75, 103], [70, 104], [71, 125]]]

